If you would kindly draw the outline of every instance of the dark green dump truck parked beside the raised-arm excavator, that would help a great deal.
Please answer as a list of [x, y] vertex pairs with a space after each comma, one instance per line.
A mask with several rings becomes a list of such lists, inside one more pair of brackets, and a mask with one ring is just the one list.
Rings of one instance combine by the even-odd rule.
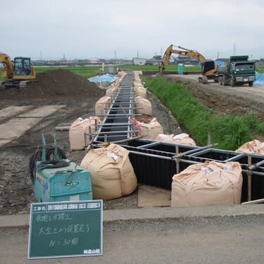
[[256, 80], [255, 62], [249, 61], [249, 56], [231, 56], [227, 65], [218, 66], [218, 82], [220, 85], [249, 84], [253, 86]]

